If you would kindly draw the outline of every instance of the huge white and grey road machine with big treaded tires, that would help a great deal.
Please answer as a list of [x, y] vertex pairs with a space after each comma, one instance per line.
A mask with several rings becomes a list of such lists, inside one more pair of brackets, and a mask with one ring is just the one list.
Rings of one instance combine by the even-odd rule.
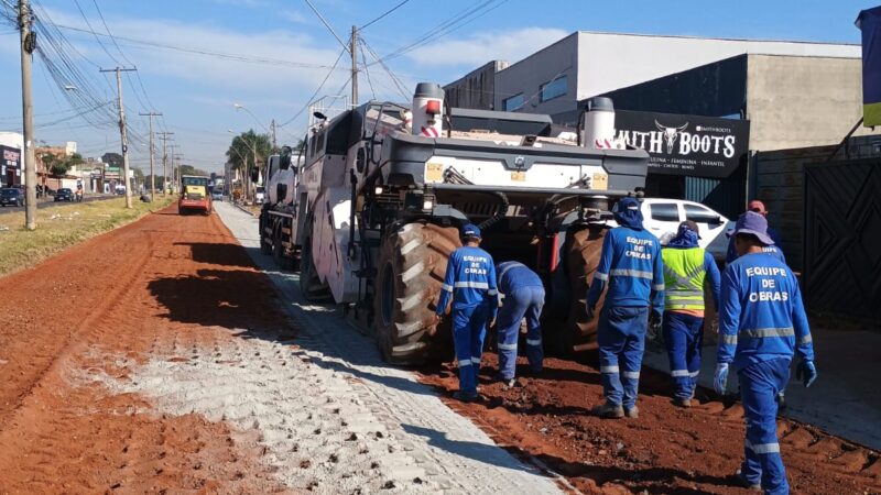
[[542, 276], [546, 350], [596, 349], [587, 287], [611, 210], [642, 195], [649, 164], [613, 139], [611, 100], [565, 130], [548, 116], [449, 108], [422, 82], [411, 106], [316, 118], [300, 150], [268, 161], [260, 215], [263, 253], [300, 271], [306, 299], [345, 305], [390, 363], [452, 359], [448, 319], [435, 326], [433, 314], [472, 222], [496, 263]]

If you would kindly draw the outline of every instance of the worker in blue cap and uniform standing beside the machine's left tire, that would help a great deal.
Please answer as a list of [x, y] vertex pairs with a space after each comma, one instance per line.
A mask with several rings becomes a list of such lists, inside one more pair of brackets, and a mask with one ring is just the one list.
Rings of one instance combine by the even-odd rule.
[[453, 397], [477, 399], [477, 374], [483, 354], [487, 326], [496, 319], [499, 292], [492, 256], [480, 249], [480, 229], [463, 228], [463, 246], [449, 255], [436, 318], [439, 320], [453, 299], [453, 342], [459, 364], [459, 391]]

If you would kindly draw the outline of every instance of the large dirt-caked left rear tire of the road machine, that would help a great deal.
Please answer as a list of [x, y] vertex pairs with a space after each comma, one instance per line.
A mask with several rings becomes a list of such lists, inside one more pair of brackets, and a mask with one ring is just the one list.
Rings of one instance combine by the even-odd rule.
[[413, 222], [382, 240], [376, 284], [373, 322], [383, 359], [418, 365], [453, 358], [449, 318], [434, 324], [434, 312], [459, 230]]

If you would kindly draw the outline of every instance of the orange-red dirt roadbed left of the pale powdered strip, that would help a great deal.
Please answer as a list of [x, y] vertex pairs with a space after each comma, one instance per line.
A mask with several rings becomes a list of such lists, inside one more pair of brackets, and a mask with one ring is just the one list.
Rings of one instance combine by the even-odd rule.
[[0, 278], [0, 493], [284, 492], [258, 439], [77, 378], [278, 324], [268, 284], [217, 216], [175, 207]]

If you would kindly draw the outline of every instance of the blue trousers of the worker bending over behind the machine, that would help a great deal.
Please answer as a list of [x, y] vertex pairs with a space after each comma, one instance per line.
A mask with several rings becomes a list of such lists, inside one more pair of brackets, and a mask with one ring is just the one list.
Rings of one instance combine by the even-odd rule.
[[514, 377], [516, 345], [520, 339], [520, 322], [526, 318], [526, 358], [534, 372], [542, 371], [542, 324], [540, 318], [544, 307], [544, 287], [518, 287], [504, 295], [499, 309], [499, 374], [504, 380]]

